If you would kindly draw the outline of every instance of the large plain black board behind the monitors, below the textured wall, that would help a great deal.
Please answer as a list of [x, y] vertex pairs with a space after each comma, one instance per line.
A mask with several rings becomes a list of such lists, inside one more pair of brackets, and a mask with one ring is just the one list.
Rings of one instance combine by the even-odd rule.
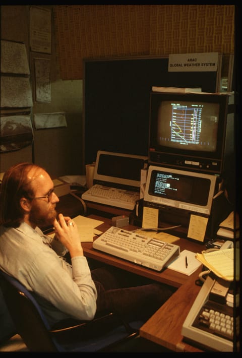
[[84, 60], [84, 163], [98, 150], [148, 156], [152, 86], [216, 92], [217, 72], [168, 72], [168, 58]]

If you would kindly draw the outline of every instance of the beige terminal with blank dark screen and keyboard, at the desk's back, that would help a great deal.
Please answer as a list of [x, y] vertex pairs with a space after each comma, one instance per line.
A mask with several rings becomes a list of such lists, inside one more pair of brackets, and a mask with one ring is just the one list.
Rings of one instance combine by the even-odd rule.
[[140, 199], [141, 169], [147, 168], [147, 156], [99, 150], [93, 186], [82, 199], [133, 210]]

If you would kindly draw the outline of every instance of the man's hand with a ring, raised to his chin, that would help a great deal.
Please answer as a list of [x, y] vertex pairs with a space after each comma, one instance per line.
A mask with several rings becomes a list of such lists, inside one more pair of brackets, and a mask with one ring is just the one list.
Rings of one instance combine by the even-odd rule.
[[83, 256], [77, 225], [69, 216], [58, 215], [59, 221], [54, 219], [53, 226], [57, 239], [69, 250], [71, 257]]

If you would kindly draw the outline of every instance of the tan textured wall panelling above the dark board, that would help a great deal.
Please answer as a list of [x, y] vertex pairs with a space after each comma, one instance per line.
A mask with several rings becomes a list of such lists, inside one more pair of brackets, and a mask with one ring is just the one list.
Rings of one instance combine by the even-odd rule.
[[61, 78], [83, 78], [83, 58], [234, 52], [233, 5], [56, 5]]

